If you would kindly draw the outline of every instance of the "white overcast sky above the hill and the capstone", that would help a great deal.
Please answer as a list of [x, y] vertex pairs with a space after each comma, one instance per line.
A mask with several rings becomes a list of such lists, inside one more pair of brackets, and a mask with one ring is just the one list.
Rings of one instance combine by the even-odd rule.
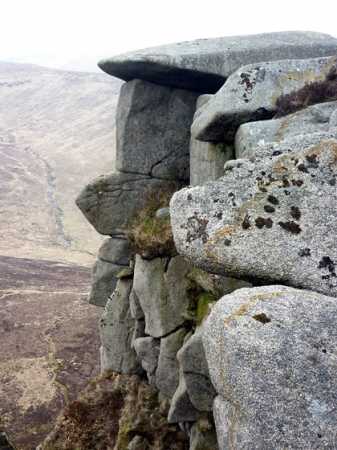
[[0, 8], [0, 60], [74, 69], [195, 38], [284, 30], [337, 36], [335, 0], [0, 0]]

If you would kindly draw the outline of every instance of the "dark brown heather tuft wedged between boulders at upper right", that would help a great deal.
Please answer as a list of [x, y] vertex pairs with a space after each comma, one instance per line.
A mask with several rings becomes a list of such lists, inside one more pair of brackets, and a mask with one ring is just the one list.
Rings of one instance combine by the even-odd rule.
[[283, 117], [307, 106], [337, 100], [337, 66], [333, 66], [326, 78], [307, 83], [301, 89], [281, 95], [276, 100], [276, 116]]

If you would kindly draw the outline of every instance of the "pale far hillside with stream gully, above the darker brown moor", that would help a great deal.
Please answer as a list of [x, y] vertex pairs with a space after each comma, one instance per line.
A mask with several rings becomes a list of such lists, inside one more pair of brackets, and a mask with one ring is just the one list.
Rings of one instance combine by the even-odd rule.
[[121, 83], [0, 63], [0, 254], [90, 264], [100, 237], [74, 199], [114, 170]]

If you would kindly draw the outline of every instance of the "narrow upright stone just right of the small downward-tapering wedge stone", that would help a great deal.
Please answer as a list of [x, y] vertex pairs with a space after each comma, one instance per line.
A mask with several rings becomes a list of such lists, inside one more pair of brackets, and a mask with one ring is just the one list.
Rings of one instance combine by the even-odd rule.
[[186, 330], [180, 328], [160, 340], [156, 385], [160, 393], [171, 398], [179, 383], [177, 352], [182, 347]]

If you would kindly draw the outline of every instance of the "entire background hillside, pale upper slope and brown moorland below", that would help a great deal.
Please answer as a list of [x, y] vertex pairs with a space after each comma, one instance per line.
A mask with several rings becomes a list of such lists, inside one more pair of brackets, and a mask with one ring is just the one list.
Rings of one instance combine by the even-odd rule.
[[120, 84], [0, 63], [0, 430], [20, 450], [99, 371], [85, 266], [102, 238], [74, 200], [114, 170]]

